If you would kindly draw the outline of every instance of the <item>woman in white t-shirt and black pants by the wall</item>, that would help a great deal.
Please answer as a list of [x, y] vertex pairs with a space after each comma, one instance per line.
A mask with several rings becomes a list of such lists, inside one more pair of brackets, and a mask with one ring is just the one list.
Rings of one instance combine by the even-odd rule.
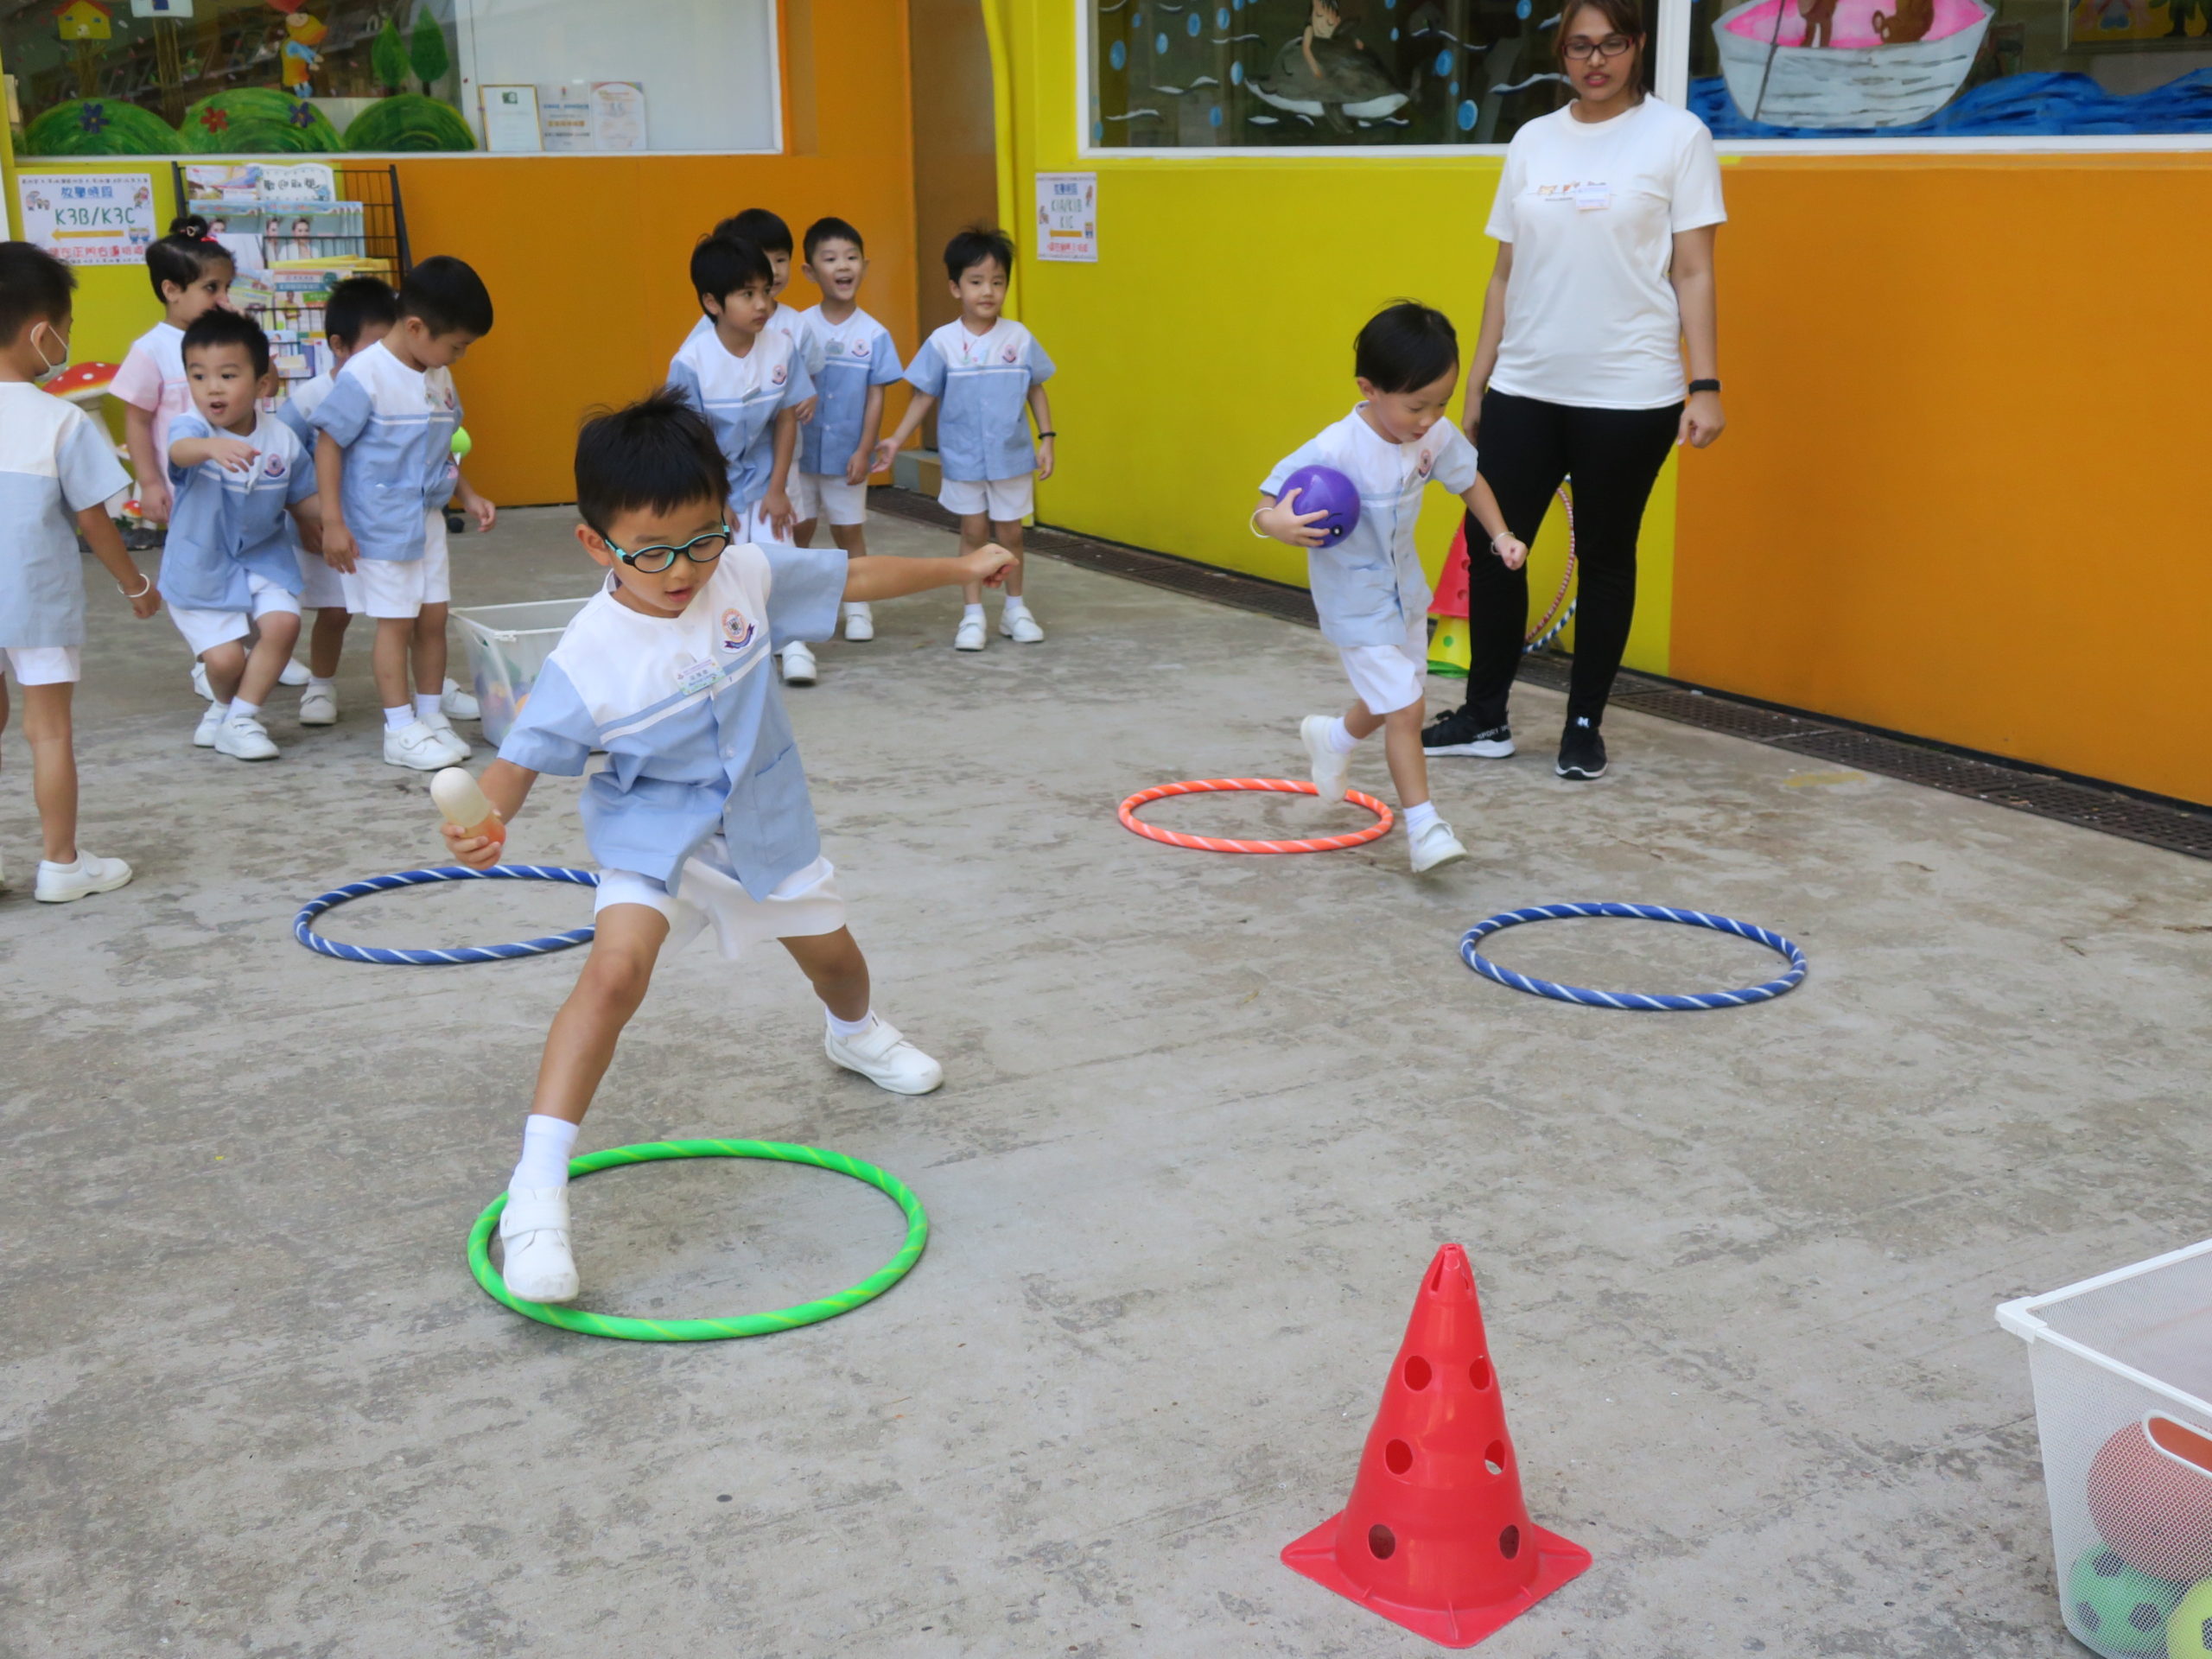
[[[1498, 265], [1469, 372], [1467, 436], [1522, 542], [1575, 480], [1575, 675], [1557, 774], [1606, 770], [1599, 723], [1637, 606], [1637, 531], [1668, 449], [1721, 436], [1712, 133], [1644, 93], [1637, 0], [1571, 0], [1559, 66], [1575, 100], [1506, 148], [1489, 234]], [[1478, 387], [1486, 387], [1480, 392]], [[1467, 706], [1422, 732], [1429, 754], [1513, 752], [1506, 699], [1528, 622], [1528, 575], [1467, 529]]]

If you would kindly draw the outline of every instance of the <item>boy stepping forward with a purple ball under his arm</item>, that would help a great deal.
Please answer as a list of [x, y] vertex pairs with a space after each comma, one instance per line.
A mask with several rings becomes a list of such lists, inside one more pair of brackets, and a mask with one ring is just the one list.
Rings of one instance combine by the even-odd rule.
[[[1380, 730], [1413, 874], [1422, 874], [1464, 858], [1467, 847], [1436, 816], [1420, 750], [1431, 597], [1413, 551], [1420, 491], [1433, 482], [1467, 502], [1506, 568], [1520, 568], [1528, 549], [1506, 529], [1498, 498], [1475, 471], [1475, 447], [1444, 418], [1460, 385], [1451, 319], [1413, 301], [1385, 307], [1360, 330], [1352, 372], [1358, 407], [1276, 462], [1261, 484], [1252, 533], [1305, 549], [1321, 635], [1336, 646], [1354, 690], [1343, 717], [1307, 714], [1298, 726], [1314, 790], [1323, 801], [1343, 801], [1352, 750]], [[1301, 467], [1327, 467], [1349, 480], [1358, 493], [1349, 531], [1336, 529], [1329, 509], [1301, 511], [1301, 491], [1287, 487]]]

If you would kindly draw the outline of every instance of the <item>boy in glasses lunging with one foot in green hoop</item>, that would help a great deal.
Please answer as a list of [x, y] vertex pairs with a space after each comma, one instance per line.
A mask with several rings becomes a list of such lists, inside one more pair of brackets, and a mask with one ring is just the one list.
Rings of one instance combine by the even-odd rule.
[[[577, 1294], [568, 1152], [666, 945], [708, 927], [726, 958], [776, 940], [823, 1000], [832, 1062], [898, 1095], [945, 1082], [869, 1009], [867, 960], [845, 929], [770, 655], [827, 639], [847, 599], [995, 584], [1013, 564], [1002, 546], [847, 560], [834, 546], [732, 542], [714, 434], [668, 387], [586, 422], [575, 502], [575, 538], [606, 586], [568, 624], [482, 776], [507, 823], [540, 772], [577, 776], [606, 750], [582, 799], [602, 867], [597, 936], [546, 1035], [500, 1221], [507, 1287], [542, 1303]], [[456, 825], [445, 838], [473, 869], [502, 854]]]

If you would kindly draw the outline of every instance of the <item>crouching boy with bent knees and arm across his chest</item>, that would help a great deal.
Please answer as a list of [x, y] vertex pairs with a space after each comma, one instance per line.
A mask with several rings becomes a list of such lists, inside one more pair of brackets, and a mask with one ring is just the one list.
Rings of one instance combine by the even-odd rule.
[[[184, 644], [208, 668], [197, 748], [274, 761], [261, 706], [299, 641], [299, 555], [285, 513], [321, 544], [314, 462], [299, 434], [259, 409], [270, 341], [239, 312], [210, 310], [184, 330], [192, 407], [168, 422], [168, 540], [161, 597]], [[257, 633], [252, 655], [243, 639]]]

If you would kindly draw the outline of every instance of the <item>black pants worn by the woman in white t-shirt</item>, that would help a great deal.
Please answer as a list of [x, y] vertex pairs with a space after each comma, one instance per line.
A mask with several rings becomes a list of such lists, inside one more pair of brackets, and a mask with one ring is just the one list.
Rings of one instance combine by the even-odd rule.
[[[1681, 425], [1666, 409], [1575, 409], [1564, 403], [1482, 394], [1475, 431], [1482, 478], [1498, 495], [1506, 529], [1535, 546], [1553, 493], [1575, 480], [1575, 675], [1566, 717], [1597, 726], [1628, 648], [1637, 611], [1637, 531], [1659, 469]], [[1467, 710], [1478, 726], [1504, 726], [1513, 670], [1528, 628], [1528, 571], [1509, 571], [1489, 551], [1489, 531], [1467, 515]]]

